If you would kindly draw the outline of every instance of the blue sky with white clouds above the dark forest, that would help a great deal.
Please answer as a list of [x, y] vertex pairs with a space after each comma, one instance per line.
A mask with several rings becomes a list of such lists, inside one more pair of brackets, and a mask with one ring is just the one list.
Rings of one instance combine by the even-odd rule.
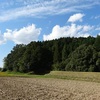
[[0, 0], [0, 67], [16, 44], [100, 35], [100, 0]]

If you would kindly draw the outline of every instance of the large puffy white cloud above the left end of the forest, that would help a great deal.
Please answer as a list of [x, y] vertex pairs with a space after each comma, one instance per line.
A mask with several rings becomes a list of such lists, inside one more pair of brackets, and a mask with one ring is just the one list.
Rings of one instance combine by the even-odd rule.
[[7, 29], [4, 33], [4, 39], [14, 41], [16, 44], [28, 44], [31, 41], [37, 41], [41, 28], [36, 28], [34, 24], [23, 27], [20, 30]]

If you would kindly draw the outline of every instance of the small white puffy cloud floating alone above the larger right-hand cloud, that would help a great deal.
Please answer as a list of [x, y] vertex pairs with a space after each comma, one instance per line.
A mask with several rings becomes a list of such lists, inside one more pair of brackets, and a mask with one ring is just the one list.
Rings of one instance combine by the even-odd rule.
[[81, 14], [81, 13], [74, 14], [74, 15], [70, 16], [70, 18], [68, 19], [68, 22], [76, 22], [76, 21], [81, 22], [83, 16], [84, 16], [84, 14]]

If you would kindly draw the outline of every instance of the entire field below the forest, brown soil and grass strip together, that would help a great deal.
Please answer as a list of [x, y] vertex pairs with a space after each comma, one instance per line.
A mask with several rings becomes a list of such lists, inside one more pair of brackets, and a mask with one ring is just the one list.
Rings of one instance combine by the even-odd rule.
[[0, 100], [100, 100], [100, 73], [53, 71], [42, 76], [0, 76]]

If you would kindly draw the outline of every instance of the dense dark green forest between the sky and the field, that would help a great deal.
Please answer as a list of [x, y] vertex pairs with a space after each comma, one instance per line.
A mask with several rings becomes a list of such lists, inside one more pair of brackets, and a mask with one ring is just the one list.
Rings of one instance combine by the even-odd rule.
[[100, 36], [67, 37], [16, 45], [4, 58], [3, 71], [100, 71]]

